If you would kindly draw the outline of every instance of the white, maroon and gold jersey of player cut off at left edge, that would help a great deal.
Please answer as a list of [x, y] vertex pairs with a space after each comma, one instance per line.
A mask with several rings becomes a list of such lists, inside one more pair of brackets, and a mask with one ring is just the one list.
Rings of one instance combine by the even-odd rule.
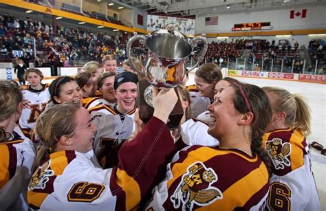
[[14, 138], [0, 142], [0, 210], [28, 210], [25, 201], [35, 159], [30, 140], [14, 128]]

